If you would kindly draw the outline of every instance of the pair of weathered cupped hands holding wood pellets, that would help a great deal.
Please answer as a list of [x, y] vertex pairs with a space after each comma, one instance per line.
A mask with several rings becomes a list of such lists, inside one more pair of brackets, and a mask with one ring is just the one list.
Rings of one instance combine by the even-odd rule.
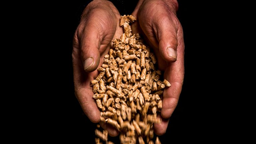
[[[158, 68], [164, 70], [164, 78], [171, 87], [163, 93], [161, 124], [154, 124], [157, 135], [166, 132], [168, 121], [177, 106], [184, 79], [184, 40], [181, 24], [176, 17], [177, 0], [139, 0], [133, 15], [137, 21], [131, 25], [133, 34], [143, 35], [157, 57]], [[100, 111], [92, 98], [90, 81], [98, 75], [96, 70], [108, 54], [111, 40], [124, 33], [119, 27], [120, 14], [106, 0], [94, 0], [85, 8], [73, 39], [73, 74], [75, 95], [94, 123], [100, 121]], [[110, 136], [118, 131], [102, 124]]]

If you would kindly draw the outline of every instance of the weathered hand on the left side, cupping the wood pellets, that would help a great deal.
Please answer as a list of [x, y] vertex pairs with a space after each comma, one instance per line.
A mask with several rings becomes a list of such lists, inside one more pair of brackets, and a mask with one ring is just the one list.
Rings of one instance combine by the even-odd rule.
[[[93, 99], [91, 80], [98, 76], [96, 70], [108, 54], [110, 42], [120, 38], [123, 30], [119, 27], [120, 14], [116, 7], [105, 0], [94, 0], [87, 5], [73, 38], [73, 74], [75, 95], [87, 117], [94, 123], [100, 121], [100, 111]], [[110, 136], [118, 131], [101, 123]]]

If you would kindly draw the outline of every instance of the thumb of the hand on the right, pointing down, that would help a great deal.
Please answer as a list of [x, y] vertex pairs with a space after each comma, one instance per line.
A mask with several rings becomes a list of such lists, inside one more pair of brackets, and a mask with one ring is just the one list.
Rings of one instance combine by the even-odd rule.
[[161, 19], [157, 18], [153, 23], [153, 28], [159, 41], [160, 55], [167, 62], [175, 62], [178, 45], [175, 23], [168, 16], [163, 16]]

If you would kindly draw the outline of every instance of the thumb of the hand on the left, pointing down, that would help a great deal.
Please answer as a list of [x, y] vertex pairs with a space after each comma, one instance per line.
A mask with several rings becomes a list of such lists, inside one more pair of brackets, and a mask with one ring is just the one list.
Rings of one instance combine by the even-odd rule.
[[81, 59], [86, 72], [97, 69], [100, 62], [100, 43], [102, 41], [101, 30], [96, 25], [85, 26], [80, 38]]

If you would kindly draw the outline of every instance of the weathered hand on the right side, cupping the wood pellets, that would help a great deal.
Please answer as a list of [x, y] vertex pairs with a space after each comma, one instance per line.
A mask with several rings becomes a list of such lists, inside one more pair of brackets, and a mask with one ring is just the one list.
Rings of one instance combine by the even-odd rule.
[[164, 70], [164, 78], [171, 87], [163, 93], [161, 124], [154, 124], [157, 135], [166, 132], [169, 118], [177, 106], [184, 79], [184, 40], [181, 24], [176, 17], [177, 0], [140, 0], [132, 15], [137, 22], [133, 33], [142, 33], [153, 48], [158, 67]]

